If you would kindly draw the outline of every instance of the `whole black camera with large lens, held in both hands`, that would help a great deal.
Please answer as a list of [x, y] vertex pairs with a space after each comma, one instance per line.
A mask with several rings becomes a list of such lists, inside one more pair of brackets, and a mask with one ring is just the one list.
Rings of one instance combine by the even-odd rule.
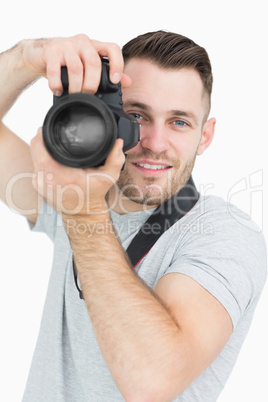
[[121, 83], [109, 80], [109, 62], [102, 59], [102, 74], [95, 95], [68, 93], [68, 72], [62, 67], [63, 93], [54, 96], [43, 124], [44, 144], [63, 165], [87, 168], [103, 165], [117, 138], [123, 151], [140, 139], [138, 122], [123, 111]]

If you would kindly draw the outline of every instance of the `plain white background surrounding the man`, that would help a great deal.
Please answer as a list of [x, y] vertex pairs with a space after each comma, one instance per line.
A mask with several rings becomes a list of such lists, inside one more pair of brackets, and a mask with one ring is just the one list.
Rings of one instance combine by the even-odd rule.
[[[267, 228], [268, 57], [266, 2], [253, 1], [44, 1], [5, 2], [0, 52], [24, 38], [71, 36], [122, 46], [151, 30], [175, 31], [204, 46], [211, 58], [211, 117], [216, 136], [197, 160], [194, 179], [248, 212]], [[1, 88], [0, 88], [1, 95]], [[29, 142], [52, 96], [46, 80], [30, 87], [5, 117]], [[52, 260], [52, 244], [31, 233], [24, 218], [0, 203], [0, 400], [20, 401], [38, 333]], [[226, 250], [228, 252], [228, 250]], [[267, 402], [267, 285], [253, 325], [220, 402]]]

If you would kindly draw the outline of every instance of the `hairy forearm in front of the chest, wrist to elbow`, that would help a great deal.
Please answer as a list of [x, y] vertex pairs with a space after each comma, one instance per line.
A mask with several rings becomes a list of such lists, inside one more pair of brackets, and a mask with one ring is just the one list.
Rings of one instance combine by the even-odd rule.
[[[68, 217], [64, 220], [68, 228]], [[129, 266], [109, 215], [79, 223], [93, 229], [90, 237], [68, 234], [106, 363], [126, 400], [166, 400], [164, 388], [178, 375], [180, 329]], [[154, 399], [155, 391], [160, 399]]]

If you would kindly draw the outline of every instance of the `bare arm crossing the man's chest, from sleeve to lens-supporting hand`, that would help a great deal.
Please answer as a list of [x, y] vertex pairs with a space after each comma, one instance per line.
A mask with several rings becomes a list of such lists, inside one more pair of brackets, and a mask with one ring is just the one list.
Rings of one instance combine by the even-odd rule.
[[[192, 279], [169, 274], [152, 292], [129, 266], [105, 202], [111, 186], [106, 178], [116, 182], [124, 162], [119, 145], [97, 170], [61, 167], [54, 185], [67, 184], [68, 178], [83, 191], [86, 181], [90, 186], [90, 210], [81, 206], [79, 214], [62, 216], [98, 343], [123, 397], [170, 401], [217, 357], [232, 323], [223, 306]], [[40, 133], [32, 141], [32, 153], [36, 168], [59, 169]], [[76, 200], [71, 193], [65, 201], [72, 210]], [[73, 230], [79, 224], [90, 227], [90, 237]]]

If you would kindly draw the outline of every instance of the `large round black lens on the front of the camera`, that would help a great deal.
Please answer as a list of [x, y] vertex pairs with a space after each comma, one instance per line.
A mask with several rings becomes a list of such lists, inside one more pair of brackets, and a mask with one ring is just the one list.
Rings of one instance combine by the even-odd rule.
[[60, 99], [47, 113], [43, 138], [58, 162], [72, 167], [99, 166], [117, 138], [117, 123], [100, 99], [72, 94]]

